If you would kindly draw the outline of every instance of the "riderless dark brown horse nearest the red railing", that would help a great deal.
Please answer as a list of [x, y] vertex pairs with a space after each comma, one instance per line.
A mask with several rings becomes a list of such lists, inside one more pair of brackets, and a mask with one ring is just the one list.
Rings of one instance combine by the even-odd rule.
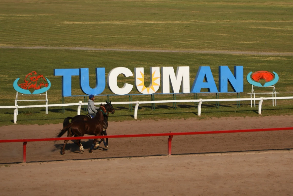
[[[104, 127], [104, 116], [109, 116], [109, 113], [113, 112], [113, 107], [110, 104], [100, 105], [100, 109], [98, 110], [96, 116], [93, 119], [83, 121], [83, 120], [75, 120], [65, 126], [57, 137], [61, 137], [67, 132], [67, 137], [82, 137], [84, 134], [99, 136], [102, 135], [103, 127]], [[98, 139], [93, 140], [93, 144], [89, 150], [90, 153], [93, 153], [93, 148], [97, 148], [98, 145], [96, 141]], [[104, 140], [104, 139], [102, 139]], [[65, 155], [65, 146], [69, 140], [64, 140], [64, 145], [62, 148], [62, 154]], [[81, 145], [80, 140], [76, 140], [74, 143], [79, 146], [79, 150], [84, 152], [84, 147]]]

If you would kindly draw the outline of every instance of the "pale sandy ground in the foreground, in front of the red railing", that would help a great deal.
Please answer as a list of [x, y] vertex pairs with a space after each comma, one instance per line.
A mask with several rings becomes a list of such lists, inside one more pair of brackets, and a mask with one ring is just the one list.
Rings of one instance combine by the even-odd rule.
[[0, 195], [292, 195], [292, 161], [269, 151], [2, 165]]

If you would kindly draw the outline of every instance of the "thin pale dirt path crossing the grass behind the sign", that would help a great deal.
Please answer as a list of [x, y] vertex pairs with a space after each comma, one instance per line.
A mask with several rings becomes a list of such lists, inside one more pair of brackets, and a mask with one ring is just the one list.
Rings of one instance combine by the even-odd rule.
[[0, 46], [6, 49], [55, 49], [55, 50], [102, 50], [102, 51], [125, 51], [125, 52], [153, 52], [153, 53], [207, 53], [207, 54], [246, 54], [246, 55], [288, 55], [293, 53], [272, 52], [248, 52], [248, 51], [225, 51], [225, 50], [136, 50], [136, 49], [111, 49], [111, 48], [87, 48], [87, 47], [47, 47], [47, 46]]

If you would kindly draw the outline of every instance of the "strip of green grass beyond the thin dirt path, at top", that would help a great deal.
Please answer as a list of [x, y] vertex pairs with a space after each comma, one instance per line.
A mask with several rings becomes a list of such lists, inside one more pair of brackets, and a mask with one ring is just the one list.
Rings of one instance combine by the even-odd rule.
[[0, 2], [0, 45], [293, 52], [292, 1]]

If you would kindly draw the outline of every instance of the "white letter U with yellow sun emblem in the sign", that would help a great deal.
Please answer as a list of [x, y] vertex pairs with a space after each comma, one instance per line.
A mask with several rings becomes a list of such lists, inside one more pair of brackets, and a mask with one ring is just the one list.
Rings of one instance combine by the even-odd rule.
[[153, 94], [160, 87], [160, 67], [151, 67], [151, 84], [149, 87], [144, 86], [144, 68], [134, 68], [135, 87], [142, 94]]

